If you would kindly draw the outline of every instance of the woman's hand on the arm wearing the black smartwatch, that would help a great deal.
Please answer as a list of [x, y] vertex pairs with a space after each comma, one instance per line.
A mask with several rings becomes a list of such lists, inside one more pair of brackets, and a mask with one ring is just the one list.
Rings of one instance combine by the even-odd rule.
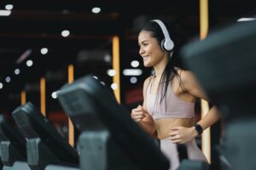
[[170, 139], [175, 144], [185, 144], [197, 136], [195, 127], [172, 127]]

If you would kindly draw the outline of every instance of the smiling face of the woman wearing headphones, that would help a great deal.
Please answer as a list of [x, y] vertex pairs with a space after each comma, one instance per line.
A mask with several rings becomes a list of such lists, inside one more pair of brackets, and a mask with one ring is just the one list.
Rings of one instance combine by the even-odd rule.
[[157, 65], [165, 56], [165, 53], [148, 31], [141, 31], [138, 36], [140, 47], [139, 54], [143, 57], [143, 65], [146, 67]]

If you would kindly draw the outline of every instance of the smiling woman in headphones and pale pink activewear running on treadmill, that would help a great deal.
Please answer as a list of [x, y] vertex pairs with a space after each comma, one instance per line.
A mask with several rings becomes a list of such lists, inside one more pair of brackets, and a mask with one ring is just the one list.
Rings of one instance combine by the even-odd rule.
[[189, 159], [207, 161], [195, 144], [195, 137], [219, 119], [215, 106], [195, 123], [195, 99], [207, 99], [191, 71], [172, 63], [176, 45], [161, 20], [152, 20], [138, 36], [139, 54], [145, 67], [154, 67], [143, 85], [143, 106], [131, 112], [131, 118], [147, 133], [160, 139], [160, 148], [177, 169], [177, 144], [185, 144]]

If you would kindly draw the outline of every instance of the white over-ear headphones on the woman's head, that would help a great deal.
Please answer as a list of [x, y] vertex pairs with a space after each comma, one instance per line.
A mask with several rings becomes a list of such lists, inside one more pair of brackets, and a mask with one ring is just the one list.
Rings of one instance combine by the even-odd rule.
[[156, 22], [164, 33], [165, 39], [163, 39], [161, 42], [161, 48], [166, 52], [172, 51], [172, 49], [174, 48], [174, 42], [172, 41], [166, 29], [165, 24], [161, 20], [151, 20], [151, 21]]

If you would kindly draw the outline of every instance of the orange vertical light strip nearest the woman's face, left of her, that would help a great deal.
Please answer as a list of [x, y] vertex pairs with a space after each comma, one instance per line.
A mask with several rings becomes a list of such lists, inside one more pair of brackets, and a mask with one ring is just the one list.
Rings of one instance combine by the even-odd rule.
[[117, 88], [113, 90], [115, 98], [120, 103], [120, 62], [119, 62], [119, 37], [114, 36], [112, 39], [112, 54], [113, 54], [113, 70], [116, 74], [113, 76], [113, 83], [117, 85]]

